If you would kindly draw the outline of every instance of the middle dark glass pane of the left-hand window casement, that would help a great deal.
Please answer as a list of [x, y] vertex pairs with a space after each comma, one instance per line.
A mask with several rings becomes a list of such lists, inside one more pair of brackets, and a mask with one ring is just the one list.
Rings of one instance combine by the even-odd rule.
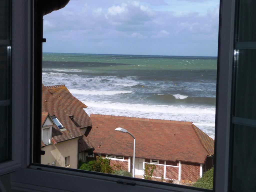
[[10, 46], [0, 46], [0, 100], [9, 99]]

